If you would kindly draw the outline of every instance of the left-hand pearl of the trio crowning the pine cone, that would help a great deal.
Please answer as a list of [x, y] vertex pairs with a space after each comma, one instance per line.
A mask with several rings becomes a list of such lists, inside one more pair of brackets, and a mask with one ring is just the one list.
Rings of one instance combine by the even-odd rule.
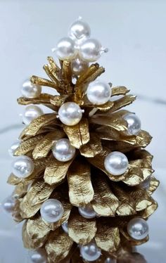
[[69, 37], [60, 39], [56, 48], [56, 56], [60, 60], [72, 60], [77, 55], [77, 49], [75, 49], [75, 41]]

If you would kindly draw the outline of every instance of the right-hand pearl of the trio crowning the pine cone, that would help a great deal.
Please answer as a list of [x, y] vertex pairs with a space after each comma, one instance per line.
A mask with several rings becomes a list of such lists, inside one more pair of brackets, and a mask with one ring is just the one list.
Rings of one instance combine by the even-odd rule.
[[79, 47], [79, 57], [87, 62], [94, 62], [101, 56], [101, 43], [96, 39], [87, 39]]

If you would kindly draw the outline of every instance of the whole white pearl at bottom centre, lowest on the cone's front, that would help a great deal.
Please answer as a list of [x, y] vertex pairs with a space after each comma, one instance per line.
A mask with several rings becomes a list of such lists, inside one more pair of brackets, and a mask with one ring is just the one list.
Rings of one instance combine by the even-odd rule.
[[96, 246], [96, 243], [91, 242], [88, 245], [82, 245], [80, 248], [81, 256], [89, 262], [97, 260], [101, 257], [101, 250]]

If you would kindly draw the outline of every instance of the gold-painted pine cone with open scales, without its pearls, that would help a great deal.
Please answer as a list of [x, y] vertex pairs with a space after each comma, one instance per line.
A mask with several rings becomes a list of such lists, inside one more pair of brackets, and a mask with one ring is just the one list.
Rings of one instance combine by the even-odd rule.
[[[102, 256], [117, 258], [120, 251], [148, 240], [133, 240], [127, 233], [127, 224], [134, 217], [148, 217], [156, 210], [157, 203], [151, 194], [158, 187], [158, 180], [151, 176], [152, 155], [144, 148], [151, 142], [148, 132], [141, 130], [137, 136], [127, 136], [127, 122], [123, 119], [127, 110], [121, 108], [135, 100], [127, 95], [125, 86], [112, 88], [116, 101], [104, 105], [91, 105], [87, 101], [86, 88], [104, 69], [91, 65], [72, 84], [68, 61], [60, 61], [61, 68], [49, 57], [44, 70], [51, 80], [32, 76], [34, 84], [49, 86], [59, 95], [41, 94], [39, 98], [18, 98], [22, 105], [41, 104], [53, 113], [33, 120], [20, 134], [22, 142], [15, 155], [27, 155], [34, 161], [34, 172], [25, 178], [8, 178], [15, 186], [15, 210], [13, 217], [23, 225], [25, 248], [44, 248], [50, 263], [84, 262], [79, 257], [77, 245], [95, 240]], [[84, 117], [75, 126], [62, 124], [57, 118], [58, 108], [67, 101], [74, 101], [84, 110]], [[58, 139], [68, 138], [77, 148], [75, 157], [60, 162], [53, 157], [51, 147]], [[125, 174], [115, 177], [109, 174], [103, 161], [112, 151], [127, 155], [129, 167]], [[143, 184], [148, 180], [149, 187]], [[60, 200], [64, 214], [60, 221], [48, 224], [41, 219], [41, 204], [49, 198]], [[94, 219], [82, 217], [77, 207], [91, 205], [98, 215]], [[68, 234], [61, 225], [68, 221]], [[69, 260], [69, 261], [68, 261]], [[71, 260], [71, 261], [70, 261]], [[120, 259], [119, 259], [120, 260]], [[120, 262], [120, 261], [119, 261]]]

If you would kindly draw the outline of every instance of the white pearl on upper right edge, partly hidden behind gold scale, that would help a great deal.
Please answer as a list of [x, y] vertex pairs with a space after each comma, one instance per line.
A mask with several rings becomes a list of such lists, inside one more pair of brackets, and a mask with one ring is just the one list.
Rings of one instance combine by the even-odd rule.
[[127, 134], [136, 135], [141, 130], [141, 121], [134, 113], [127, 113], [123, 117], [127, 121]]

